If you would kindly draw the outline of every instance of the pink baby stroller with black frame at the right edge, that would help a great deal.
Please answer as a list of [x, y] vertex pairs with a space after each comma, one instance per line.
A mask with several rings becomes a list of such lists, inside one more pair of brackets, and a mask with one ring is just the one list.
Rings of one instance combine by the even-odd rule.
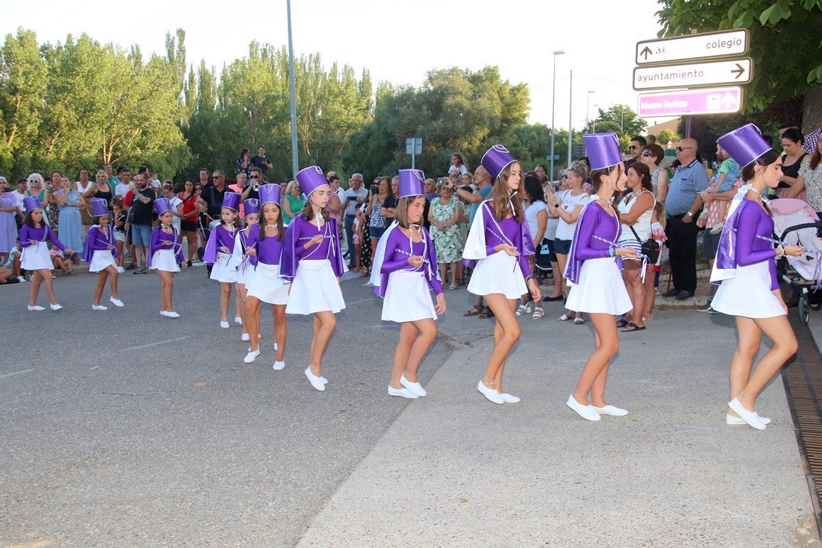
[[[822, 240], [817, 236], [822, 223], [810, 205], [795, 198], [772, 200], [770, 205], [774, 211], [774, 237], [791, 246], [822, 252]], [[792, 290], [787, 305], [799, 308], [799, 317], [805, 325], [808, 325], [810, 310], [822, 307], [822, 290], [817, 288], [816, 280], [818, 259], [819, 256], [803, 253], [777, 262], [778, 277]]]

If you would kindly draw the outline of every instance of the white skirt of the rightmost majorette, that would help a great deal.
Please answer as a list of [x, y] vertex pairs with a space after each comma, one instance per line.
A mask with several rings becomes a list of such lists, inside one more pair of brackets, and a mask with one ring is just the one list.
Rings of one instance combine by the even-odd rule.
[[737, 275], [723, 280], [711, 300], [713, 310], [746, 318], [773, 318], [785, 309], [770, 288], [769, 262], [737, 266]]

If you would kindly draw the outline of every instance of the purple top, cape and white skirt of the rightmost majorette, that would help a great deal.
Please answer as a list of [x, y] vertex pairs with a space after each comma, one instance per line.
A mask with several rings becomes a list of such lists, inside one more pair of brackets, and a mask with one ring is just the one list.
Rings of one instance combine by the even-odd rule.
[[741, 203], [725, 221], [719, 238], [711, 282], [718, 283], [711, 300], [713, 310], [746, 318], [785, 315], [774, 295], [779, 288], [774, 246], [770, 238], [774, 219], [755, 200], [747, 198], [750, 185], [741, 187]]

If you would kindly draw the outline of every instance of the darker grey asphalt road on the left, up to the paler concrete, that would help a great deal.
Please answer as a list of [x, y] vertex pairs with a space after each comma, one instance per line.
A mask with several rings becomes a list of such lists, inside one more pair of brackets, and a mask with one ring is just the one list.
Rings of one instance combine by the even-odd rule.
[[[89, 274], [58, 276], [59, 312], [0, 288], [0, 546], [293, 546], [407, 403], [386, 394], [397, 328], [372, 288], [344, 281], [319, 393], [307, 318], [289, 316], [272, 371], [270, 340], [246, 365], [239, 326], [220, 329], [204, 268], [175, 278], [178, 320], [155, 274], [120, 278], [109, 311], [91, 311]], [[436, 343], [423, 382], [449, 353]]]

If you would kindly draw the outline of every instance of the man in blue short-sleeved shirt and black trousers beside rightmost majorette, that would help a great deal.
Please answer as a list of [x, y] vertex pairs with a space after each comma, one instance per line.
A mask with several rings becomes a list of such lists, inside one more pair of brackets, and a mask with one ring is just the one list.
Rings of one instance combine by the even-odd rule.
[[673, 289], [663, 297], [677, 300], [694, 296], [696, 291], [696, 234], [695, 220], [702, 207], [700, 192], [708, 187], [708, 172], [696, 159], [699, 146], [693, 139], [683, 139], [677, 146], [681, 167], [673, 176], [665, 198], [668, 220], [665, 233], [670, 250]]

